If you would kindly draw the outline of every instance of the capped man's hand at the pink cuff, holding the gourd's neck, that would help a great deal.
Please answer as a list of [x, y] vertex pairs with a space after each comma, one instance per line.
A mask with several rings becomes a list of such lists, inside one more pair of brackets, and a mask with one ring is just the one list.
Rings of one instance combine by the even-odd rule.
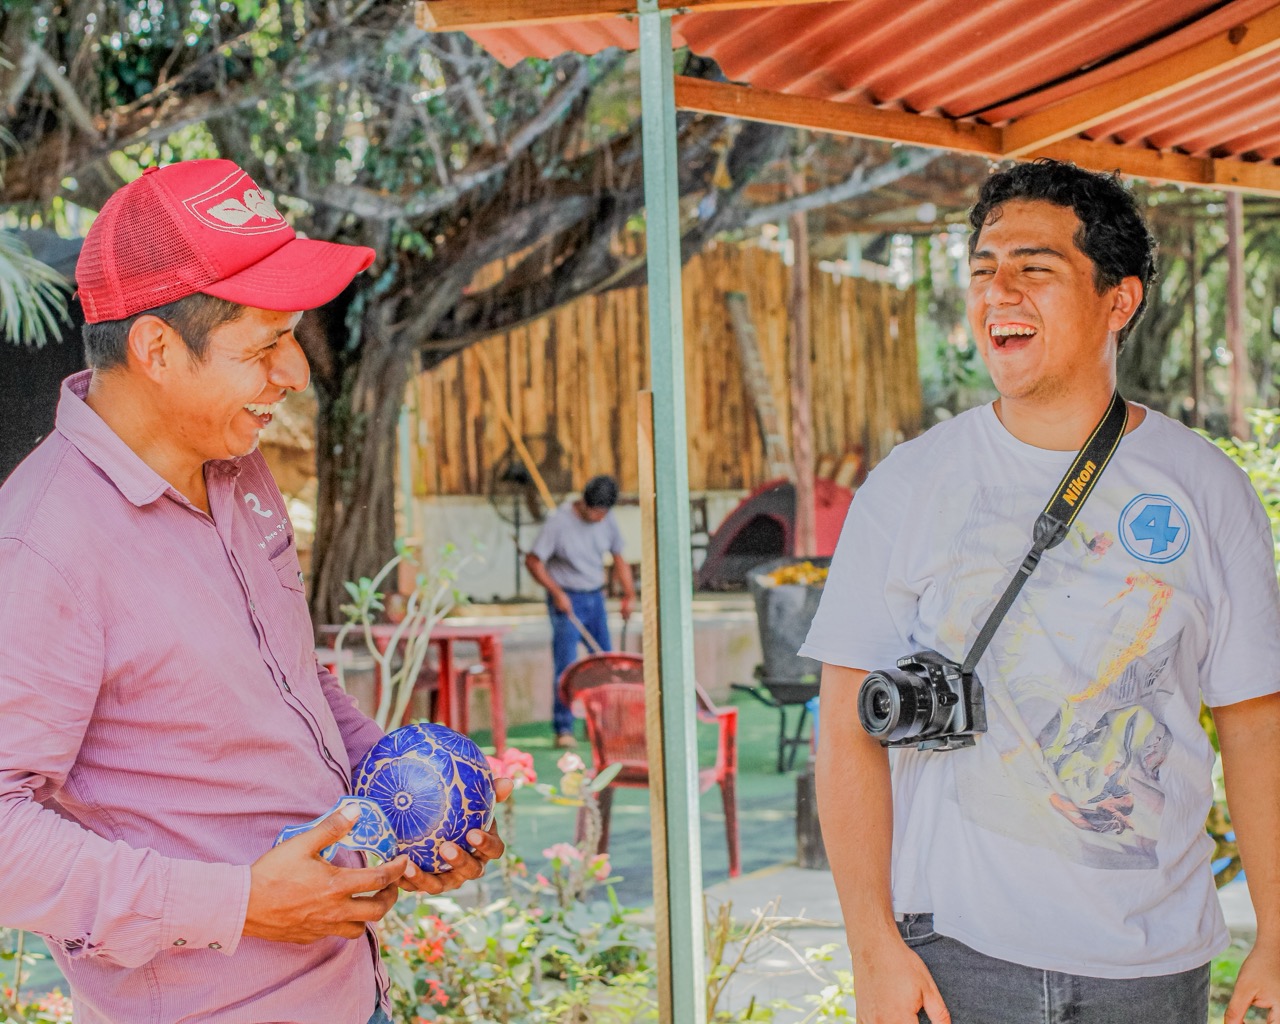
[[[352, 805], [343, 808], [348, 809], [356, 810]], [[320, 851], [355, 824], [343, 810], [253, 861], [246, 936], [274, 942], [315, 942], [328, 936], [360, 938], [369, 922], [381, 920], [392, 909], [402, 877], [422, 877], [407, 856], [376, 868], [338, 868], [324, 860]]]

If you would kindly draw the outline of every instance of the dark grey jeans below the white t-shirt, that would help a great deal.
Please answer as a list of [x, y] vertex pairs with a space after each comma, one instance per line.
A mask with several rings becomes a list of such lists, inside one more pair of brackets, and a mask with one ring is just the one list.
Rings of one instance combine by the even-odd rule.
[[[1208, 964], [1158, 978], [1085, 978], [997, 960], [933, 931], [932, 914], [897, 925], [924, 961], [952, 1024], [1204, 1024]], [[920, 1011], [920, 1024], [928, 1024]]]

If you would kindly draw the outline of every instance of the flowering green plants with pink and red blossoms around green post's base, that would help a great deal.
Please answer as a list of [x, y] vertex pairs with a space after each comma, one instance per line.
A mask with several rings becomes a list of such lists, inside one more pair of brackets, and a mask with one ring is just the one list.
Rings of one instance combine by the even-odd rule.
[[[465, 908], [448, 899], [406, 897], [384, 919], [383, 959], [392, 980], [394, 1019], [404, 1024], [630, 1024], [658, 1019], [654, 937], [636, 910], [622, 906], [612, 887], [608, 855], [596, 854], [595, 794], [607, 780], [593, 777], [581, 758], [564, 754], [556, 785], [539, 783], [532, 758], [508, 749], [493, 758], [495, 773], [517, 788], [582, 812], [577, 842], [543, 851], [545, 865], [530, 878], [529, 865], [511, 852], [516, 829], [513, 796], [502, 805], [508, 855], [498, 868], [503, 895], [490, 900], [481, 879], [460, 895], [479, 896]], [[801, 1024], [851, 1021], [852, 978], [826, 972], [833, 946], [799, 952], [783, 936], [790, 920], [777, 904], [737, 923], [722, 904], [707, 915], [707, 1005], [714, 1024], [772, 1021], [799, 1011], [783, 1001], [727, 1005], [730, 982], [763, 955], [785, 951], [814, 979]]]

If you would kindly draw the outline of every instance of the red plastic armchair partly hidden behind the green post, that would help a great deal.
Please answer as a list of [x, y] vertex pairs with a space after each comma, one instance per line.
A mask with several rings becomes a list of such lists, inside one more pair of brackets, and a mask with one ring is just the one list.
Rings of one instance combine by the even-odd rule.
[[[622, 769], [599, 795], [600, 852], [609, 849], [609, 815], [617, 786], [648, 788], [649, 754], [645, 746], [644, 660], [639, 654], [608, 652], [573, 662], [559, 678], [561, 699], [575, 713], [581, 708], [591, 742], [591, 762], [599, 773], [611, 764]], [[717, 708], [698, 687], [698, 719], [719, 730], [716, 764], [700, 768], [698, 790], [719, 785], [724, 801], [728, 840], [728, 874], [742, 873], [737, 832], [737, 708]]]

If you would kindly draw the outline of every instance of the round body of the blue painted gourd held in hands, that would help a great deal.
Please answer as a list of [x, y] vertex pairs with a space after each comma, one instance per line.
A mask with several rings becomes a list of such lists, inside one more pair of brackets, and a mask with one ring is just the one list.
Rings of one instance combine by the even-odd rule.
[[422, 870], [449, 870], [442, 842], [470, 849], [466, 835], [493, 820], [493, 774], [480, 748], [435, 723], [389, 732], [356, 767], [352, 790], [387, 815], [396, 849]]

